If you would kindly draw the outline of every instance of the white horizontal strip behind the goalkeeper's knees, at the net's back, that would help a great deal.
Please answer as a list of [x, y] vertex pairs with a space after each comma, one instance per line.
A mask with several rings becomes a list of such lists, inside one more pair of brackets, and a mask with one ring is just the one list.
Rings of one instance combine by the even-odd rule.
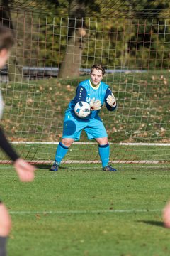
[[[59, 144], [60, 142], [11, 142], [12, 144]], [[74, 142], [74, 144], [96, 144], [96, 142]], [[111, 145], [123, 145], [123, 146], [170, 146], [170, 143], [129, 143], [129, 142], [120, 142], [113, 143], [109, 142]]]

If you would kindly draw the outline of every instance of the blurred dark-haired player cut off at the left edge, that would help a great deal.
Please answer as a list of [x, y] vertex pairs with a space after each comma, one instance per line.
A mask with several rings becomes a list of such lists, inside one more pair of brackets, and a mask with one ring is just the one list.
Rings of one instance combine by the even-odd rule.
[[[13, 46], [13, 33], [4, 27], [0, 26], [0, 68], [3, 68], [8, 59], [8, 50]], [[0, 91], [0, 119], [3, 113], [3, 101]], [[16, 169], [20, 181], [33, 181], [34, 179], [34, 166], [28, 164], [21, 159], [18, 154], [13, 150], [8, 143], [3, 130], [0, 127], [0, 147], [6, 154], [13, 160], [13, 166]], [[6, 239], [11, 230], [11, 218], [8, 215], [8, 210], [4, 203], [0, 200], [0, 256], [6, 256]]]

